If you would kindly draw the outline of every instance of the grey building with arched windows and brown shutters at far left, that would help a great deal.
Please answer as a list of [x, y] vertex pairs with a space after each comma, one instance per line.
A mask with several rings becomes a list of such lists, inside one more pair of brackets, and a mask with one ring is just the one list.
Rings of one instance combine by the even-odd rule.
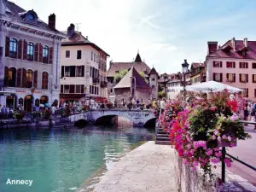
[[33, 106], [59, 101], [61, 38], [55, 15], [48, 24], [33, 10], [0, 0], [0, 87], [6, 94], [1, 104]]

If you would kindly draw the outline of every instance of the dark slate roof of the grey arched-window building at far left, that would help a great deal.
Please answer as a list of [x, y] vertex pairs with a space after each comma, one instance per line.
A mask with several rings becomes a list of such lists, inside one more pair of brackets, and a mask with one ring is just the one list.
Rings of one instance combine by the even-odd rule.
[[[37, 22], [34, 22], [34, 23], [26, 22], [26, 20], [24, 20], [24, 18], [25, 18], [28, 11], [26, 11], [25, 9], [20, 8], [20, 6], [16, 5], [15, 3], [7, 1], [6, 10], [7, 11], [6, 11], [5, 15], [7, 17], [9, 17], [9, 19], [11, 19], [11, 20], [15, 20], [17, 22], [20, 22], [22, 24], [26, 24], [28, 26], [38, 27], [40, 29], [44, 29], [44, 30], [47, 30], [49, 32], [59, 32], [56, 29], [50, 28], [47, 23], [44, 23], [44, 21], [39, 20], [39, 19], [37, 20]], [[59, 32], [59, 33], [62, 36], [64, 35], [62, 32]]]

